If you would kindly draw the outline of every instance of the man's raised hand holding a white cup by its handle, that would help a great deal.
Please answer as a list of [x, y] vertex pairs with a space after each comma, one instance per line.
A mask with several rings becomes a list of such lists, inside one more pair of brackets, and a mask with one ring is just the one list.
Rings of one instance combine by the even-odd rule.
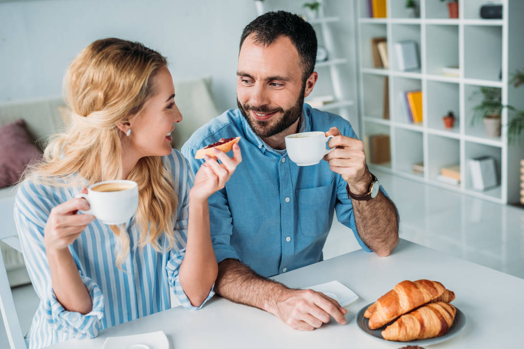
[[331, 127], [325, 135], [334, 136], [329, 141], [329, 147], [336, 147], [324, 156], [324, 160], [329, 162], [330, 169], [342, 176], [350, 185], [352, 193], [366, 194], [372, 176], [366, 166], [364, 143], [359, 139], [341, 135], [337, 127]]

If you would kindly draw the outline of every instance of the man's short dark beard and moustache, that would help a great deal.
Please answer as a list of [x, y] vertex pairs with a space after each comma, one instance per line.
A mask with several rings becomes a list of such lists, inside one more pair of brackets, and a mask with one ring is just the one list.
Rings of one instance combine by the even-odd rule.
[[[299, 98], [297, 99], [297, 102], [294, 104], [293, 107], [291, 107], [288, 110], [283, 110], [282, 108], [269, 108], [268, 106], [260, 106], [260, 107], [253, 107], [249, 104], [242, 105], [238, 98], [236, 99], [236, 103], [238, 105], [238, 109], [244, 115], [244, 118], [246, 119], [249, 126], [251, 126], [251, 129], [255, 132], [255, 134], [261, 138], [265, 137], [271, 137], [274, 136], [284, 130], [286, 130], [289, 126], [291, 126], [294, 122], [300, 118], [300, 115], [302, 115], [302, 107], [304, 104], [304, 91], [305, 91], [305, 84], [302, 86], [302, 91], [300, 92]], [[251, 114], [249, 113], [249, 110], [252, 110], [254, 112], [260, 112], [260, 113], [275, 113], [280, 112], [283, 113], [280, 120], [278, 120], [275, 124], [270, 124], [270, 122], [273, 122], [270, 120], [256, 120], [252, 119]]]

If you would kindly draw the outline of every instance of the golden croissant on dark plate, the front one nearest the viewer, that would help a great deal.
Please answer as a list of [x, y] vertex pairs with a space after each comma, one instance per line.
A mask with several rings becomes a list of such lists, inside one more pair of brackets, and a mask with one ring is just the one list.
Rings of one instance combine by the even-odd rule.
[[413, 341], [443, 335], [455, 320], [456, 309], [444, 302], [430, 303], [390, 324], [382, 336], [388, 341]]

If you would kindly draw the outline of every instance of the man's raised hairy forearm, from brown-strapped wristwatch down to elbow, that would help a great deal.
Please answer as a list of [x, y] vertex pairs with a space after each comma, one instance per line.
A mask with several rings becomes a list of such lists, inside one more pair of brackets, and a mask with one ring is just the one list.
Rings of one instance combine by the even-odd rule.
[[380, 257], [398, 243], [398, 213], [395, 204], [381, 191], [369, 201], [353, 200], [358, 235]]

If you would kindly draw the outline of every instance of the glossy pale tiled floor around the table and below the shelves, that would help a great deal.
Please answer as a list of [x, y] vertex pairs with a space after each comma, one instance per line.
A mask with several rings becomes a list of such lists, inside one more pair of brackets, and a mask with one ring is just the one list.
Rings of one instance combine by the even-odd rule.
[[[524, 278], [524, 210], [375, 173], [400, 213], [400, 237], [459, 258]], [[334, 222], [324, 258], [358, 249], [353, 234]], [[13, 290], [24, 331], [38, 298], [31, 286]], [[0, 348], [7, 348], [0, 327]]]

